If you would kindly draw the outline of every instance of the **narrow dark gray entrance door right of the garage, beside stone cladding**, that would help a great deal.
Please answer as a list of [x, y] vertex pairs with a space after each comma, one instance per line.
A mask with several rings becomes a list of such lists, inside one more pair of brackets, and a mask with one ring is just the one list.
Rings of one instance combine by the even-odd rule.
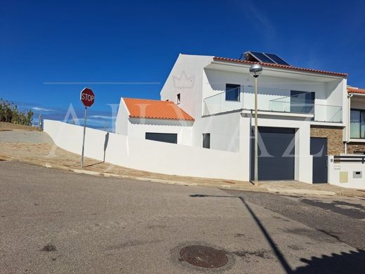
[[327, 183], [327, 138], [310, 138], [313, 155], [313, 183]]

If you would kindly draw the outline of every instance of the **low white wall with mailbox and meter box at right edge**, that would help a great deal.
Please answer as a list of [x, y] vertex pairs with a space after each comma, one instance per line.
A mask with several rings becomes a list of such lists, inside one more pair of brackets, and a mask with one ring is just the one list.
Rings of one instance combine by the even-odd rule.
[[[354, 178], [354, 172], [356, 171], [361, 172], [361, 178]], [[341, 182], [341, 173], [345, 177], [347, 174], [347, 180]], [[335, 163], [333, 156], [328, 156], [328, 183], [343, 188], [365, 189], [365, 164], [355, 162]]]

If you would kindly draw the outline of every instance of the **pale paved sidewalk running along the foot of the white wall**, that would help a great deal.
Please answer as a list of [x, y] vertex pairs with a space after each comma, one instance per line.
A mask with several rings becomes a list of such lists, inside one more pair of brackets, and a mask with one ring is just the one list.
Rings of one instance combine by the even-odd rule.
[[255, 187], [250, 182], [211, 178], [196, 178], [156, 174], [86, 158], [81, 170], [80, 155], [58, 148], [47, 133], [36, 131], [1, 131], [0, 159], [17, 160], [42, 167], [62, 169], [95, 176], [132, 178], [139, 181], [154, 181], [178, 185], [201, 185], [213, 188], [278, 193], [283, 195], [340, 195], [364, 197], [365, 191], [340, 188], [335, 185], [311, 185], [298, 181], [260, 182]]

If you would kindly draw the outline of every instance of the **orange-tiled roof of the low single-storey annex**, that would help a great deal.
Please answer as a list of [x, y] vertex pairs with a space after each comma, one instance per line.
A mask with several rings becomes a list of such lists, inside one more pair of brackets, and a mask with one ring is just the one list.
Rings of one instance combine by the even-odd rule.
[[131, 118], [194, 121], [178, 105], [170, 101], [123, 98]]

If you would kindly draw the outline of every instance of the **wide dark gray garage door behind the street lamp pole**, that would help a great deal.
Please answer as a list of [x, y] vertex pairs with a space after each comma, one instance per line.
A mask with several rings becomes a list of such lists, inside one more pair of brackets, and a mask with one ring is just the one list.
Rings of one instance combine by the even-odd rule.
[[[294, 179], [294, 129], [258, 127], [260, 133], [258, 148], [259, 180]], [[291, 145], [293, 148], [291, 148]], [[251, 180], [254, 167], [254, 140], [251, 139]]]

